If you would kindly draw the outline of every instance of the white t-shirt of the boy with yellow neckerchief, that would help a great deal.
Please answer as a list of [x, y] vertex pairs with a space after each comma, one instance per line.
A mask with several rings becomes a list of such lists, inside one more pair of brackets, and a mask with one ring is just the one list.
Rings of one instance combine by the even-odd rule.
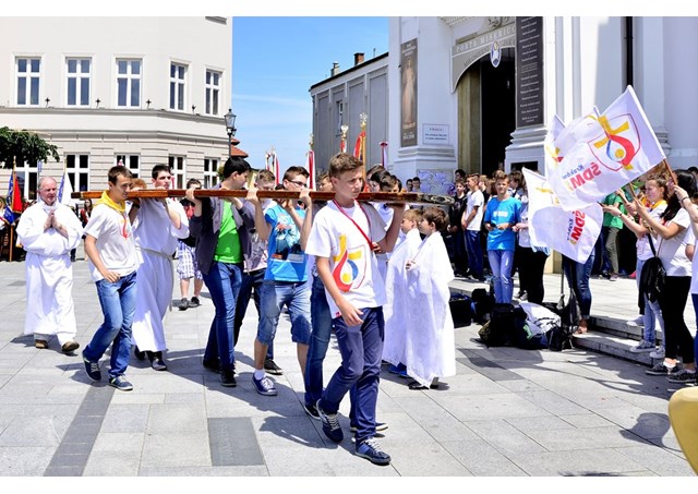
[[[128, 214], [120, 214], [107, 205], [97, 204], [85, 225], [84, 233], [97, 239], [97, 253], [107, 269], [121, 276], [136, 270], [139, 260]], [[88, 266], [94, 281], [104, 279], [89, 260]]]

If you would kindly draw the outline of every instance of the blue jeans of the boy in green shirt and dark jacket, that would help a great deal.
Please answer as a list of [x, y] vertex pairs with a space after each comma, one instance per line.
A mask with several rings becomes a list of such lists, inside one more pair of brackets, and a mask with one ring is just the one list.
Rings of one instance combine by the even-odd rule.
[[216, 309], [208, 332], [204, 360], [220, 359], [220, 369], [232, 371], [236, 361], [233, 341], [236, 302], [242, 285], [242, 263], [228, 264], [214, 261], [208, 274], [203, 276]]

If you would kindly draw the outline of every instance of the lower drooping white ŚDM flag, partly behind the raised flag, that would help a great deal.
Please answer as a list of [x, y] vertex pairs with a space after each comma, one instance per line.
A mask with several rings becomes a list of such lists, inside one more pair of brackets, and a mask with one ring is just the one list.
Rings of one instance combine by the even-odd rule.
[[531, 245], [546, 246], [586, 263], [601, 233], [601, 206], [594, 203], [578, 210], [564, 210], [545, 177], [526, 168], [522, 171], [528, 189]]

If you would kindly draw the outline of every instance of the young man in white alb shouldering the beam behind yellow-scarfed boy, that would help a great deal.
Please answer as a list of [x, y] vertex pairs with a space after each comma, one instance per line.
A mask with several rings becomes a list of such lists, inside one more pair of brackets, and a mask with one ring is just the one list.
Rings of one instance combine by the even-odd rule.
[[[151, 177], [155, 189], [167, 190], [172, 184], [167, 165], [156, 165]], [[189, 219], [182, 205], [167, 197], [133, 198], [129, 216], [139, 256], [139, 297], [133, 316], [135, 354], [141, 360], [147, 356], [153, 369], [165, 371], [163, 322], [172, 300], [172, 254], [177, 240], [189, 237]]]

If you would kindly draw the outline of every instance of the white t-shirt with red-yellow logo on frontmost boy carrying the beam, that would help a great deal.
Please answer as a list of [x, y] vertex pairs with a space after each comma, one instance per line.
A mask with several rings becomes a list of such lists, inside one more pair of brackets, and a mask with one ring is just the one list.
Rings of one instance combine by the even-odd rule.
[[[387, 299], [376, 256], [349, 218], [356, 221], [371, 242], [378, 242], [385, 237], [385, 222], [370, 204], [357, 206], [354, 203], [354, 207], [342, 209], [344, 213], [330, 202], [317, 213], [305, 253], [329, 258], [329, 269], [337, 288], [353, 306], [382, 306]], [[337, 304], [329, 293], [325, 293], [333, 317], [339, 317], [341, 313]]]

